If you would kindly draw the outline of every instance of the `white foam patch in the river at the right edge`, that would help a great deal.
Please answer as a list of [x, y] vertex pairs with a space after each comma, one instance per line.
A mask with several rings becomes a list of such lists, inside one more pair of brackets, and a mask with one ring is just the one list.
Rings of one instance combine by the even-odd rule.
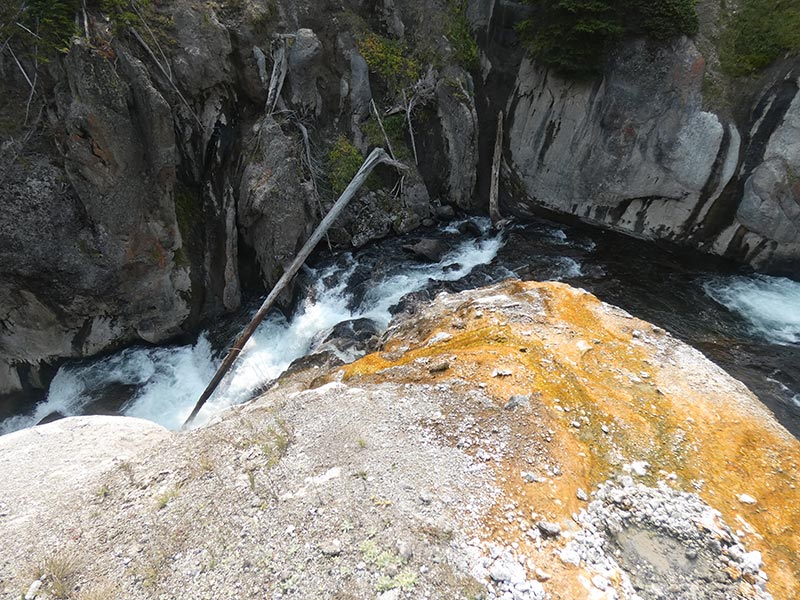
[[750, 275], [712, 278], [702, 285], [754, 333], [776, 344], [800, 344], [800, 282]]

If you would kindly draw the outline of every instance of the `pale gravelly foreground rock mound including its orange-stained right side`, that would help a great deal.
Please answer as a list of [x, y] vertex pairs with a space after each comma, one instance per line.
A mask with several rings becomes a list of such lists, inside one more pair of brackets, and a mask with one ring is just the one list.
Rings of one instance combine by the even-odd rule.
[[442, 294], [380, 352], [201, 430], [131, 432], [137, 455], [87, 456], [78, 482], [36, 467], [57, 427], [4, 459], [29, 497], [69, 499], [0, 488], [4, 597], [53, 597], [65, 563], [86, 598], [798, 592], [800, 443], [699, 352], [563, 284]]

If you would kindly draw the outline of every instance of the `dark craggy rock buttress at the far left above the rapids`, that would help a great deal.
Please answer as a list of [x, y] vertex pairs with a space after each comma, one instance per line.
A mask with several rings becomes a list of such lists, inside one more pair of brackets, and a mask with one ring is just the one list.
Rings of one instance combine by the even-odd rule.
[[169, 108], [138, 61], [121, 62], [128, 82], [73, 48], [57, 94], [64, 170], [44, 157], [27, 171], [11, 166], [0, 190], [3, 358], [37, 363], [157, 342], [189, 315]]

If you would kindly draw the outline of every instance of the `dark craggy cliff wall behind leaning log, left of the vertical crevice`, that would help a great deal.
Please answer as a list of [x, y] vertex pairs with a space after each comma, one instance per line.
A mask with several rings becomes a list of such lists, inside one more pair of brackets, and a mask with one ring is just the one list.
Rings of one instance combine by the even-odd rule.
[[[432, 202], [471, 206], [472, 86], [441, 35], [441, 7], [386, 2], [353, 20], [356, 2], [321, 6], [165, 2], [135, 35], [114, 35], [108, 15], [93, 14], [91, 43], [52, 61], [42, 89], [52, 135], [41, 137], [57, 146], [9, 138], [12, 160], [0, 164], [0, 393], [46, 385], [40, 363], [196, 331], [238, 307], [240, 267], [274, 283], [335, 199], [324, 177], [332, 141], [344, 135], [366, 153], [380, 142], [362, 131], [371, 101], [387, 110], [401, 97], [359, 52], [370, 28], [409, 46], [435, 40], [434, 78], [459, 84], [419, 103], [419, 168], [409, 164], [403, 185], [379, 173], [386, 189], [365, 189], [331, 239], [358, 246], [426, 222]], [[280, 44], [273, 118], [265, 101]], [[27, 83], [7, 67], [4, 85], [24, 105]]]

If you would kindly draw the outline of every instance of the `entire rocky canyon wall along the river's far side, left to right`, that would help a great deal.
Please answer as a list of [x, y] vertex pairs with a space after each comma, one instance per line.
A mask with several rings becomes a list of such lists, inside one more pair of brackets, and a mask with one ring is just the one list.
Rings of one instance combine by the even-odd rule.
[[[89, 7], [90, 42], [76, 38], [38, 67], [39, 125], [3, 132], [2, 393], [46, 386], [66, 358], [194, 335], [236, 310], [242, 287], [269, 286], [335, 200], [333, 143], [344, 136], [362, 153], [383, 144], [372, 102], [397, 119], [421, 83], [430, 89], [412, 115], [418, 160], [397, 119], [406, 177], [379, 172], [331, 231], [335, 247], [410, 231], [453, 207], [485, 211], [503, 110], [504, 211], [553, 211], [800, 273], [796, 57], [715, 111], [703, 92], [715, 60], [708, 32], [628, 40], [601, 76], [577, 82], [524, 58], [514, 26], [528, 8], [506, 0], [465, 3], [480, 51], [469, 69], [454, 49], [452, 6], [152, 8], [147, 28], [112, 33], [110, 15]], [[377, 55], [368, 33], [388, 44]], [[389, 50], [398, 72], [387, 75], [379, 63]], [[0, 67], [15, 98], [27, 97], [16, 65]], [[7, 103], [3, 122], [34, 121], [23, 104]], [[34, 142], [21, 141], [28, 133]]]

